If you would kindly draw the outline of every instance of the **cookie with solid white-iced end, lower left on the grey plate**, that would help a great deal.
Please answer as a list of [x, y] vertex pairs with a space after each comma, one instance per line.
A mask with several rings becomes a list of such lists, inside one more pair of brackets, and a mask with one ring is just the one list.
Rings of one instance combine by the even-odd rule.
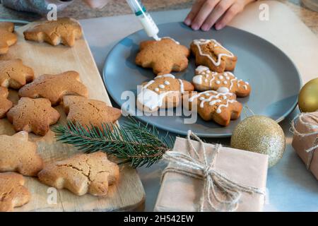
[[143, 112], [177, 107], [181, 103], [182, 95], [193, 90], [192, 83], [175, 78], [172, 74], [156, 76], [154, 80], [143, 83], [137, 96], [137, 107]]

